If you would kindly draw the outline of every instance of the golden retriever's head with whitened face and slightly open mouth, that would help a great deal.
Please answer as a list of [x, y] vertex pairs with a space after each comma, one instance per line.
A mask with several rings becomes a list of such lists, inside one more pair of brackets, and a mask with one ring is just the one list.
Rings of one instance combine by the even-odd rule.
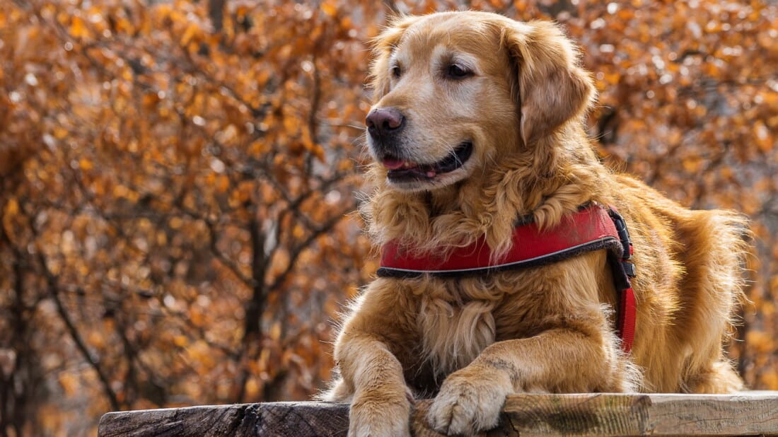
[[594, 98], [573, 44], [548, 22], [487, 12], [405, 17], [373, 51], [367, 143], [401, 191], [446, 187], [531, 152]]

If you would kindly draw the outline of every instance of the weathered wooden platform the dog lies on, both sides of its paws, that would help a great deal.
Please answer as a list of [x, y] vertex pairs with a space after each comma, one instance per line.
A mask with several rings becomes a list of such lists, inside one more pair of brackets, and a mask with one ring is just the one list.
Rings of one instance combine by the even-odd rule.
[[[413, 414], [426, 428], [429, 400]], [[349, 409], [326, 402], [273, 402], [107, 413], [99, 437], [145, 435], [345, 435]], [[520, 394], [506, 401], [498, 428], [483, 435], [778, 435], [778, 392], [735, 395]]]

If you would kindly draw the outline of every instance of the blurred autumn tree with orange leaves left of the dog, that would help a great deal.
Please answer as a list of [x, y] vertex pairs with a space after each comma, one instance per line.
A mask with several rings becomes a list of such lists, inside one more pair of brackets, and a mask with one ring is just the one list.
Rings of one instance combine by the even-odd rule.
[[369, 250], [365, 36], [325, 6], [2, 6], [4, 433], [317, 389]]

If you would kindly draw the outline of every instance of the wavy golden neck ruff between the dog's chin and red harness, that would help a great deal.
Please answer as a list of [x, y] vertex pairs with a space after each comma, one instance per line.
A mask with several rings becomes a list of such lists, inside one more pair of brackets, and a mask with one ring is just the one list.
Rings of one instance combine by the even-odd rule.
[[396, 191], [374, 167], [370, 178], [378, 188], [363, 205], [374, 243], [380, 246], [394, 239], [433, 253], [484, 236], [499, 255], [510, 250], [518, 217], [531, 215], [542, 228], [555, 225], [588, 201], [607, 202], [603, 177], [607, 170], [589, 145], [565, 147], [565, 139], [555, 135], [546, 140], [548, 144], [541, 140], [530, 152], [506, 156], [482, 175], [434, 191]]

